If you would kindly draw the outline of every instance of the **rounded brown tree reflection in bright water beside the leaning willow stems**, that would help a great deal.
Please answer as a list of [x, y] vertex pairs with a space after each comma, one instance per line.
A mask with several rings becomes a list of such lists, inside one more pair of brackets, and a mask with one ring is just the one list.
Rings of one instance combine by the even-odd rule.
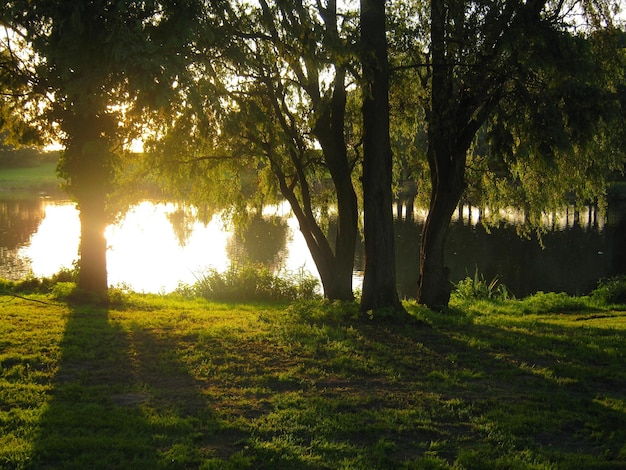
[[290, 238], [289, 227], [282, 217], [254, 214], [235, 226], [226, 252], [233, 264], [260, 263], [279, 271], [285, 267]]

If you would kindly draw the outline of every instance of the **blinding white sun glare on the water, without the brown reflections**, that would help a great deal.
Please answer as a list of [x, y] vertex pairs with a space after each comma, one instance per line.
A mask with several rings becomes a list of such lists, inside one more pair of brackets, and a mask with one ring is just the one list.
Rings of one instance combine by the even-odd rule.
[[[170, 292], [179, 283], [193, 284], [209, 268], [223, 271], [230, 260], [226, 249], [233, 231], [222, 218], [214, 216], [204, 225], [188, 214], [178, 233], [174, 220], [181, 208], [172, 203], [144, 201], [132, 207], [117, 223], [107, 227], [107, 267], [110, 285], [129, 286], [138, 292]], [[176, 213], [176, 214], [175, 214]], [[274, 213], [287, 217], [293, 230], [286, 247], [285, 269], [316, 270], [295, 218], [283, 207]], [[182, 214], [185, 218], [187, 215]], [[78, 211], [69, 202], [47, 202], [45, 216], [30, 242], [18, 255], [31, 261], [35, 276], [51, 276], [71, 268], [78, 258], [80, 222]]]

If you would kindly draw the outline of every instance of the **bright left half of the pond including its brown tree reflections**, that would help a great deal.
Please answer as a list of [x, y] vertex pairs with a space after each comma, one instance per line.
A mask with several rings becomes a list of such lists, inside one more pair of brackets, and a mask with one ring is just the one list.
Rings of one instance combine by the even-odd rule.
[[[11, 215], [0, 218], [0, 230], [10, 235], [3, 239], [4, 278], [19, 279], [30, 272], [50, 276], [72, 267], [77, 259], [80, 225], [74, 204], [34, 202], [4, 206]], [[208, 268], [223, 271], [244, 259], [277, 270], [315, 272], [306, 244], [284, 208], [267, 210], [234, 230], [219, 216], [204, 224], [193, 208], [144, 201], [107, 227], [109, 283], [139, 292], [168, 292], [180, 282], [195, 282]]]

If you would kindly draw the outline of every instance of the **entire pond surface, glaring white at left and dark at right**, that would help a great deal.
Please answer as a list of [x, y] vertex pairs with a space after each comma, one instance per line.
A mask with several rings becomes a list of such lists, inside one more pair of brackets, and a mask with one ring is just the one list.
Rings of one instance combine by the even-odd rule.
[[[542, 248], [535, 237], [522, 239], [513, 225], [489, 233], [465, 208], [452, 222], [446, 264], [451, 280], [478, 269], [498, 277], [516, 296], [539, 290], [587, 293], [598, 279], [626, 273], [626, 204], [610, 206], [607, 218], [590, 212], [562, 213], [547, 221]], [[398, 288], [416, 293], [423, 212], [396, 220]], [[512, 215], [514, 219], [514, 214]], [[24, 198], [0, 201], [0, 276], [19, 279], [32, 273], [50, 276], [77, 258], [80, 226], [69, 201]], [[267, 207], [263, 217], [235, 230], [215, 216], [198, 222], [193, 209], [144, 201], [106, 231], [111, 285], [139, 292], [169, 292], [193, 283], [209, 268], [223, 271], [243, 260], [273, 269], [317, 275], [315, 265], [288, 206]], [[355, 287], [360, 286], [363, 251], [357, 249]]]

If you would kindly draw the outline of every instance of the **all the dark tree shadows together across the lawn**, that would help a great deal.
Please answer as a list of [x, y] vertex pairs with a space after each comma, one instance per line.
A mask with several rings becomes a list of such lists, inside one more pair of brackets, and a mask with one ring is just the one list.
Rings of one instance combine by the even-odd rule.
[[[302, 322], [272, 328], [285, 348], [222, 335], [202, 346], [128, 318], [122, 328], [117, 314], [72, 312], [31, 468], [199, 468], [239, 451], [255, 468], [316, 468], [267, 445], [287, 437], [325, 462], [370, 452], [362, 468], [426, 452], [464, 468], [626, 468], [623, 335], [462, 315], [433, 328], [309, 318], [329, 336], [306, 347]], [[183, 362], [185, 348], [200, 356]], [[190, 372], [207, 358], [232, 379]]]

